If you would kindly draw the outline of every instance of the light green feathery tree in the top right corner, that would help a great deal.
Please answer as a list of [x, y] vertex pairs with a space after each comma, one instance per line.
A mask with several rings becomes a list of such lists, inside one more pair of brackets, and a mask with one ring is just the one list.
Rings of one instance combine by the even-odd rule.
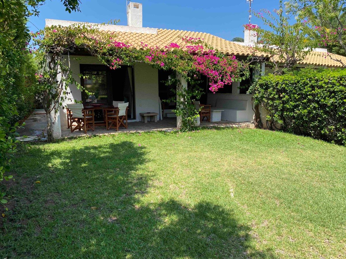
[[[291, 0], [286, 6], [309, 29], [306, 31], [319, 46], [330, 46], [332, 52], [345, 55], [345, 0]], [[346, 66], [335, 56], [329, 57]]]

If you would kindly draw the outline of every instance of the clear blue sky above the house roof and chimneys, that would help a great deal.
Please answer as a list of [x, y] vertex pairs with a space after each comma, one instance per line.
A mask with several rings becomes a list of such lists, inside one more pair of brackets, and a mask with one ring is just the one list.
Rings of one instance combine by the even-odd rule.
[[[60, 0], [47, 0], [39, 8], [39, 17], [31, 17], [37, 28], [45, 26], [45, 19], [102, 23], [120, 19], [119, 25], [127, 25], [126, 0], [81, 0], [81, 12], [66, 12]], [[248, 23], [248, 4], [245, 0], [136, 0], [143, 4], [143, 27], [208, 32], [231, 40], [243, 37], [243, 25]], [[272, 10], [279, 0], [254, 0], [254, 10]], [[37, 31], [32, 23], [28, 27]], [[253, 16], [252, 23], [262, 25]]]

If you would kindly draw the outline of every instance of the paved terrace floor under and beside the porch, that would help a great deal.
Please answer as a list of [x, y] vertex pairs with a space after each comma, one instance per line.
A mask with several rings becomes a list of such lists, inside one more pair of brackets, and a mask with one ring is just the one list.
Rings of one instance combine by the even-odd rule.
[[[46, 113], [43, 109], [36, 109], [25, 121], [26, 125], [24, 129], [18, 130], [20, 136], [39, 136], [44, 132], [43, 136], [46, 136], [47, 132], [47, 121]], [[250, 122], [230, 122], [230, 121], [220, 121], [220, 122], [202, 122], [201, 127], [243, 127], [243, 128], [253, 128], [254, 124]], [[61, 135], [62, 137], [71, 136], [88, 136], [88, 135], [103, 135], [103, 134], [114, 134], [117, 132], [145, 132], [145, 131], [173, 131], [176, 130], [176, 118], [164, 118], [161, 121], [155, 122], [129, 122], [128, 127], [119, 128], [119, 131], [111, 129], [106, 130], [105, 126], [96, 126], [95, 131], [88, 131], [86, 134], [83, 131], [74, 131], [65, 126], [62, 126]], [[43, 137], [41, 140], [45, 140]]]

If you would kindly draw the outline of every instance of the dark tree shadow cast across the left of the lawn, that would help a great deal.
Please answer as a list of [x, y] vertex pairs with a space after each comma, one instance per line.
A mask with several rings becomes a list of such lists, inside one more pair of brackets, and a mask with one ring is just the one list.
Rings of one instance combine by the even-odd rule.
[[26, 198], [6, 225], [14, 231], [12, 246], [0, 245], [3, 256], [274, 258], [253, 248], [250, 227], [211, 202], [191, 208], [174, 197], [143, 202], [155, 180], [149, 157], [145, 147], [122, 141], [34, 148], [18, 158], [42, 167], [26, 173], [30, 182], [39, 173], [41, 184], [24, 186]]

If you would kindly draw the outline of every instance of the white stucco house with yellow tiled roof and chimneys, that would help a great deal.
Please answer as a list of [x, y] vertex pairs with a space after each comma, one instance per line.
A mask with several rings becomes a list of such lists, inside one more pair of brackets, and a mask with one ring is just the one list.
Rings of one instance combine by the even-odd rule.
[[[165, 47], [171, 42], [183, 45], [182, 37], [200, 37], [215, 49], [224, 52], [227, 55], [235, 55], [237, 59], [244, 59], [250, 55], [248, 45], [257, 39], [250, 31], [245, 30], [244, 43], [232, 42], [220, 37], [203, 32], [191, 32], [182, 30], [143, 28], [142, 26], [142, 4], [130, 2], [128, 5], [128, 25], [102, 25], [100, 30], [104, 33], [116, 33], [117, 41], [129, 42], [133, 47], [140, 48], [141, 42], [148, 44], [149, 47]], [[64, 20], [46, 19], [46, 26], [61, 25], [69, 26], [77, 22]], [[316, 51], [327, 51], [326, 49], [317, 49]], [[70, 54], [73, 55], [73, 54]], [[340, 57], [344, 59], [344, 57]], [[312, 52], [306, 60], [301, 62], [300, 66], [307, 65], [323, 67], [340, 67], [340, 63]], [[121, 66], [116, 70], [111, 70], [107, 66], [92, 56], [79, 55], [78, 59], [71, 59], [71, 69], [74, 72], [76, 80], [80, 80], [89, 92], [95, 93], [95, 96], [86, 96], [74, 85], [70, 85], [71, 99], [88, 102], [90, 98], [94, 102], [111, 104], [112, 101], [129, 102], [129, 123], [140, 121], [139, 113], [156, 112], [158, 119], [174, 117], [172, 109], [175, 103], [161, 106], [160, 99], [166, 99], [170, 96], [169, 87], [161, 83], [169, 74], [162, 70], [157, 70], [144, 63], [136, 63], [134, 66]], [[262, 63], [261, 71], [253, 71], [253, 74], [271, 73], [271, 69]], [[88, 76], [81, 79], [79, 74]], [[186, 81], [183, 85], [188, 87]], [[246, 88], [239, 88], [240, 85], [247, 85], [249, 81], [234, 82], [231, 86], [225, 86], [218, 90], [216, 94], [208, 90], [208, 81], [204, 81], [205, 94], [201, 97], [200, 103], [211, 104], [212, 107], [221, 107], [227, 109], [227, 112], [221, 113], [222, 120], [234, 122], [253, 122], [254, 111], [252, 109], [251, 95], [246, 94]], [[161, 115], [161, 109], [164, 109], [164, 116]], [[177, 119], [177, 123], [179, 120]], [[57, 118], [56, 127], [66, 127], [66, 111], [61, 109]], [[130, 127], [130, 124], [129, 124]], [[56, 129], [57, 129], [56, 128]]]

